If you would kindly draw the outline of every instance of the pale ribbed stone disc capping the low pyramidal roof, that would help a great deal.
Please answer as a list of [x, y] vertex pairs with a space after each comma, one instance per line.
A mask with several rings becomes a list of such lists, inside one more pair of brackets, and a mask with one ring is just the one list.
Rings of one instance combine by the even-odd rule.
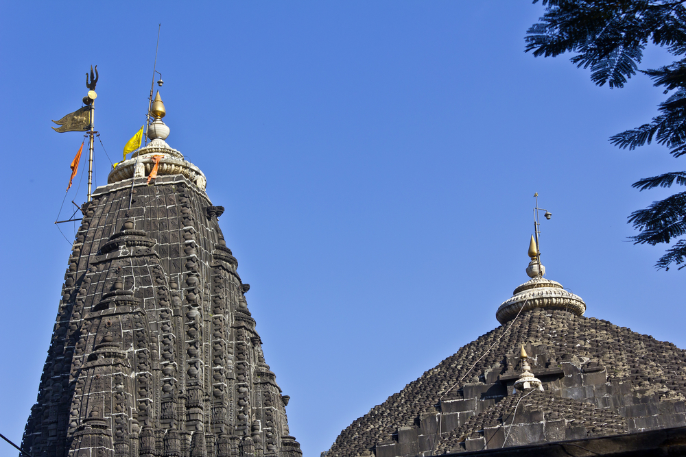
[[520, 309], [525, 312], [534, 308], [567, 310], [577, 316], [586, 312], [586, 304], [581, 297], [565, 291], [562, 284], [534, 277], [514, 289], [514, 296], [499, 306], [495, 318], [499, 323], [506, 323], [514, 319]]

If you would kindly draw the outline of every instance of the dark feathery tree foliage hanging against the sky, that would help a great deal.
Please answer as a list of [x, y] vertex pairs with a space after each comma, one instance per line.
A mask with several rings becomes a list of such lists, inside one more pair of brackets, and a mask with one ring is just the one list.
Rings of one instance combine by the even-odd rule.
[[[537, 3], [538, 0], [534, 0]], [[635, 149], [656, 141], [670, 148], [672, 156], [686, 154], [686, 58], [659, 69], [639, 70], [643, 50], [650, 43], [665, 47], [675, 57], [686, 54], [686, 8], [676, 0], [543, 0], [545, 14], [525, 37], [526, 51], [538, 57], [575, 53], [571, 62], [591, 70], [598, 86], [621, 88], [636, 74], [645, 73], [665, 94], [660, 114], [650, 123], [610, 138], [622, 149]], [[686, 172], [643, 178], [633, 184], [639, 190], [686, 186]], [[628, 222], [641, 232], [636, 244], [671, 243], [686, 235], [686, 193], [677, 193], [648, 208], [632, 212]], [[656, 266], [686, 267], [686, 240], [677, 240]]]

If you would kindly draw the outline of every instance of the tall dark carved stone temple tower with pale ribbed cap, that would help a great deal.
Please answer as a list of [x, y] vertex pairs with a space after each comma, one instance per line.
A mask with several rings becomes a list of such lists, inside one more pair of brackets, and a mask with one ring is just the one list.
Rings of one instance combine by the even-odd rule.
[[155, 123], [150, 145], [83, 207], [22, 447], [34, 457], [300, 457], [220, 229], [224, 208]]

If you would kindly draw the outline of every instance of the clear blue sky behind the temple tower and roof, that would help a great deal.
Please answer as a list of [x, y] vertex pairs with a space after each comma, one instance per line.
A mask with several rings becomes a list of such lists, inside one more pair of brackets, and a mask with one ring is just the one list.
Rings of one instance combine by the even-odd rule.
[[[226, 207], [305, 456], [495, 328], [528, 279], [534, 192], [553, 213], [547, 277], [587, 316], [686, 347], [686, 271], [656, 271], [664, 247], [632, 245], [626, 224], [668, 194], [630, 184], [683, 164], [663, 147], [608, 143], [664, 96], [641, 75], [597, 88], [569, 56], [525, 54], [542, 11], [524, 0], [0, 3], [0, 433], [21, 441], [74, 234], [53, 222], [81, 136], [50, 120], [80, 107], [97, 64], [96, 127], [119, 160], [145, 119], [160, 22], [167, 142]], [[649, 51], [644, 66], [662, 62]], [[15, 453], [0, 443], [0, 455]]]

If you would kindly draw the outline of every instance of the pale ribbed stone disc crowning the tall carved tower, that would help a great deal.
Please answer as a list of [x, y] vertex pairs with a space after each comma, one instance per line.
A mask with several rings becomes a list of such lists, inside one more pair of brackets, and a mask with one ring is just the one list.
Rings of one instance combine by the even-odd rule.
[[117, 168], [110, 171], [107, 177], [107, 184], [128, 180], [131, 177], [145, 177], [150, 175], [152, 167], [155, 165], [153, 156], [163, 156], [161, 158], [157, 175], [183, 175], [189, 181], [196, 184], [200, 190], [205, 190], [206, 178], [200, 169], [184, 160], [183, 156], [176, 149], [171, 149], [163, 140], [153, 140], [150, 145], [138, 149], [131, 154], [131, 158], [117, 164]]

